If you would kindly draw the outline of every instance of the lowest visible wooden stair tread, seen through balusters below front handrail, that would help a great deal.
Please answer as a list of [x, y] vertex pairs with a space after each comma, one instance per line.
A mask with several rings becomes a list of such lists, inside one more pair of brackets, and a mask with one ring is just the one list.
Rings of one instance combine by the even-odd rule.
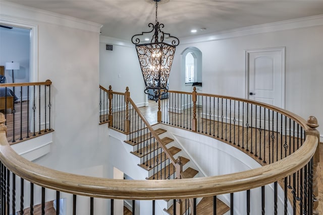
[[[183, 202], [183, 214], [185, 214], [185, 199]], [[188, 204], [188, 203], [187, 203]], [[217, 214], [222, 215], [230, 210], [230, 207], [217, 198]], [[166, 210], [169, 214], [173, 214], [173, 205]], [[204, 197], [196, 206], [196, 214], [213, 214], [213, 197]]]

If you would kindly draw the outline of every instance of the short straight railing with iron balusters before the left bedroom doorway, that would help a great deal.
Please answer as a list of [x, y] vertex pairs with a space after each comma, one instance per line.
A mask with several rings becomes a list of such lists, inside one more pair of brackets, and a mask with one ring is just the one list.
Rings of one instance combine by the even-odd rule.
[[11, 144], [52, 131], [50, 86], [50, 80], [0, 84], [0, 111]]

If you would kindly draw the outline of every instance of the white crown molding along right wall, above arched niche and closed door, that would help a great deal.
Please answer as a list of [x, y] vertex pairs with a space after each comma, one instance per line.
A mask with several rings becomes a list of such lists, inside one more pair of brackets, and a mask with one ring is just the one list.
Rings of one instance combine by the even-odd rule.
[[234, 37], [248, 36], [275, 31], [285, 31], [298, 28], [323, 26], [323, 15], [304, 17], [281, 22], [267, 23], [262, 25], [237, 28], [227, 31], [213, 32], [200, 36], [181, 38], [181, 44], [223, 40]]

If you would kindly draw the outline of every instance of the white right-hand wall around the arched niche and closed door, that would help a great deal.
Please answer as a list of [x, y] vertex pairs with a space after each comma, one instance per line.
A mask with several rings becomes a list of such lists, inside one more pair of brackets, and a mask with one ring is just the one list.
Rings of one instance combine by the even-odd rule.
[[[322, 17], [317, 19], [321, 20]], [[232, 34], [229, 32], [227, 37], [220, 35], [219, 39], [204, 42], [194, 42], [200, 38], [183, 40], [176, 49], [170, 75], [170, 89], [185, 89], [185, 85], [180, 81], [180, 53], [185, 48], [194, 46], [201, 50], [203, 56], [203, 93], [245, 98], [245, 50], [285, 46], [285, 108], [304, 119], [313, 115], [317, 117], [318, 123], [322, 123], [323, 25], [320, 22], [313, 27], [298, 28], [301, 26], [294, 23], [293, 27], [295, 26], [296, 28], [289, 30], [280, 29], [256, 34], [250, 30], [251, 33], [248, 35], [241, 30], [241, 36], [237, 30]], [[265, 27], [261, 26], [263, 29], [266, 29]], [[213, 38], [217, 38], [217, 35]], [[318, 130], [323, 133], [323, 127], [318, 127]]]

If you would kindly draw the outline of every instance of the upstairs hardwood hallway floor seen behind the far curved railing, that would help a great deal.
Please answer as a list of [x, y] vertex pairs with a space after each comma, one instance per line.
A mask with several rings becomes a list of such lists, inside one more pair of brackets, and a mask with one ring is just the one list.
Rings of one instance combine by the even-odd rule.
[[[144, 116], [146, 117], [146, 119], [148, 119], [149, 123], [151, 124], [155, 124], [157, 123], [156, 121], [156, 112], [157, 112], [157, 109], [158, 109], [158, 106], [157, 104], [158, 103], [155, 103], [154, 101], [151, 101], [149, 100], [149, 107], [141, 107], [140, 108], [140, 111], [142, 111], [142, 113], [144, 114]], [[178, 114], [175, 114], [175, 113], [172, 113], [170, 116], [168, 116], [168, 122], [171, 122], [172, 121], [172, 118], [175, 117], [177, 119], [180, 119], [180, 117], [178, 116]], [[185, 117], [183, 117], [185, 118]], [[179, 125], [178, 122], [180, 122], [181, 120], [177, 120], [177, 124], [176, 125], [172, 125], [172, 126], [176, 126], [176, 127], [181, 127]], [[205, 123], [206, 122], [206, 123]], [[203, 123], [203, 124], [201, 124]], [[220, 123], [220, 122], [219, 122]], [[210, 135], [210, 133], [212, 132], [209, 132], [210, 130], [213, 131], [213, 130], [216, 130], [219, 128], [219, 130], [221, 131], [222, 129], [226, 130], [226, 127], [229, 127], [230, 124], [226, 124], [226, 123], [221, 123], [221, 125], [219, 124], [217, 121], [212, 121], [212, 120], [200, 120], [200, 124], [198, 125], [200, 129], [202, 129], [202, 126], [204, 127], [203, 130], [203, 134], [204, 135]], [[169, 123], [168, 123], [169, 124]], [[231, 125], [233, 126], [233, 125]], [[216, 129], [214, 129], [216, 128]], [[211, 135], [213, 138], [217, 138], [217, 139], [220, 139], [221, 141], [225, 141], [225, 139], [227, 139], [227, 141], [225, 142], [228, 142], [228, 144], [232, 145], [233, 147], [235, 148], [238, 148], [241, 150], [242, 148], [242, 144], [240, 144], [240, 146], [238, 146], [238, 144], [236, 143], [236, 145], [233, 144], [234, 142], [234, 138], [236, 141], [238, 141], [238, 138], [241, 140], [242, 138], [242, 134], [245, 134], [246, 135], [246, 132], [249, 133], [249, 135], [251, 134], [251, 132], [253, 132], [253, 135], [257, 134], [258, 138], [259, 138], [259, 130], [258, 129], [255, 129], [255, 128], [249, 128], [248, 131], [246, 130], [246, 128], [242, 128], [242, 126], [240, 127], [237, 127], [237, 125], [235, 126], [235, 131], [236, 133], [234, 134], [232, 132], [234, 127], [232, 127], [231, 129], [231, 132], [227, 132], [224, 134], [224, 136], [222, 135], [219, 135], [219, 137], [217, 137], [217, 132], [216, 132], [216, 135], [213, 136], [213, 134]], [[205, 132], [207, 131], [207, 132]], [[238, 131], [239, 131], [239, 136], [238, 136]], [[266, 165], [268, 163], [272, 163], [273, 161], [275, 162], [276, 160], [280, 160], [281, 156], [288, 156], [290, 151], [289, 149], [291, 149], [291, 152], [293, 152], [294, 149], [296, 149], [295, 147], [297, 146], [297, 144], [299, 144], [300, 142], [300, 139], [298, 138], [293, 138], [293, 137], [289, 137], [288, 135], [287, 136], [284, 136], [284, 135], [280, 135], [279, 133], [277, 132], [274, 132], [274, 135], [276, 136], [277, 139], [275, 139], [275, 144], [272, 144], [272, 142], [267, 142], [268, 139], [270, 139], [270, 136], [273, 132], [265, 132], [265, 136], [263, 136], [263, 133], [262, 133], [262, 138], [259, 139], [259, 141], [257, 141], [257, 145], [254, 144], [255, 142], [255, 139], [251, 140], [249, 139], [247, 142], [244, 142], [244, 148], [248, 149], [249, 152], [246, 152], [244, 150], [245, 153], [248, 153], [250, 157], [254, 158], [258, 163], [260, 163], [261, 165]], [[229, 138], [231, 140], [231, 143], [229, 143]], [[291, 147], [285, 151], [285, 148], [283, 148], [283, 146], [281, 144], [276, 144], [276, 142], [285, 142], [285, 140], [287, 142], [290, 142], [291, 143]], [[262, 154], [260, 155], [260, 151], [259, 151], [259, 144], [264, 144], [265, 142], [265, 146], [266, 148], [269, 148], [269, 147], [272, 147], [274, 148], [274, 150], [276, 150], [278, 153], [276, 155], [273, 155], [273, 154], [269, 154], [269, 153], [266, 153], [266, 154]], [[251, 146], [251, 143], [253, 143], [253, 145]], [[257, 146], [257, 150], [255, 149]], [[317, 171], [318, 171], [318, 196], [317, 196], [317, 200], [319, 201], [318, 203], [318, 211], [319, 211], [319, 214], [323, 214], [323, 143], [320, 143], [319, 145], [320, 149], [320, 163], [318, 164], [318, 167], [317, 167]], [[278, 149], [278, 150], [277, 150]], [[252, 154], [251, 154], [252, 152]], [[286, 153], [286, 155], [285, 155]], [[257, 155], [257, 156], [255, 156]], [[259, 159], [261, 157], [261, 160]], [[263, 163], [263, 161], [266, 161], [266, 164]], [[202, 213], [204, 214], [204, 213]], [[205, 213], [205, 214], [208, 214], [208, 213]]]

